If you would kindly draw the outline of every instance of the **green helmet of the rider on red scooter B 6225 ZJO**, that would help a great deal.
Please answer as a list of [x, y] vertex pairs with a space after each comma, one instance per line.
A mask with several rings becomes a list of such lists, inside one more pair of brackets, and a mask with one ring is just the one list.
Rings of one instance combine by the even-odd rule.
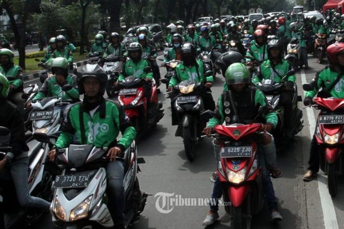
[[250, 83], [250, 71], [244, 64], [234, 63], [227, 68], [225, 78], [228, 85], [248, 84]]

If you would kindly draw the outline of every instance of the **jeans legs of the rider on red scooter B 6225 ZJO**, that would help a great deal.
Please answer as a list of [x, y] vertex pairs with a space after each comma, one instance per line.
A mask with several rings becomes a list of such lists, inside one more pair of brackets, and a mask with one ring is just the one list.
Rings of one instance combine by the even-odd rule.
[[[213, 146], [214, 146], [215, 159], [218, 164], [220, 160], [220, 157], [219, 157], [220, 146], [216, 144], [213, 144]], [[267, 200], [269, 210], [270, 211], [277, 210], [277, 200], [275, 196], [274, 187], [270, 179], [270, 173], [266, 169], [265, 158], [262, 152], [263, 152], [262, 147], [258, 146], [258, 164], [259, 166], [261, 166], [261, 169], [262, 169], [263, 192]], [[222, 196], [222, 186], [221, 186], [219, 177], [216, 176], [214, 186], [213, 186], [213, 193], [211, 195], [212, 201], [209, 202], [211, 211], [219, 210], [218, 201], [221, 198], [221, 196]]]

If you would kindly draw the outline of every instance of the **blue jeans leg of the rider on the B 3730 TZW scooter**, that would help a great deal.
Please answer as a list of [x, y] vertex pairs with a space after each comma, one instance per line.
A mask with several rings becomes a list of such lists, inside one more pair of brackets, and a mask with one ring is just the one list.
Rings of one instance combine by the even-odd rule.
[[114, 223], [124, 222], [124, 164], [121, 161], [109, 162], [106, 168], [108, 177], [109, 211]]

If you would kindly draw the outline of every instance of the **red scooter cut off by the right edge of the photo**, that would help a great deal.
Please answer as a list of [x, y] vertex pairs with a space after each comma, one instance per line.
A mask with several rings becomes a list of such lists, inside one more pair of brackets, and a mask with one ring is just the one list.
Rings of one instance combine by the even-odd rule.
[[[304, 84], [305, 91], [313, 91], [313, 86]], [[344, 99], [314, 98], [315, 109], [320, 110], [315, 127], [315, 138], [319, 147], [320, 168], [327, 173], [327, 187], [329, 194], [334, 197], [338, 192], [337, 174], [343, 174], [344, 157]]]

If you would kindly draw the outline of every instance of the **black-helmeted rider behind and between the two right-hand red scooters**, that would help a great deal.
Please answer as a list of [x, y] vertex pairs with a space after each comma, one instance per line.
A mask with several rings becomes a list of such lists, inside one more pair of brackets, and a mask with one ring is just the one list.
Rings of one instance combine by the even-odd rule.
[[[267, 45], [267, 55], [268, 60], [264, 61], [260, 65], [260, 70], [258, 74], [252, 80], [254, 84], [261, 83], [263, 79], [274, 80], [276, 83], [282, 81], [289, 70], [291, 70], [291, 65], [284, 60], [284, 50], [283, 44], [279, 40], [271, 40]], [[292, 117], [292, 99], [294, 95], [294, 84], [295, 84], [295, 74], [288, 76], [284, 81], [284, 91], [281, 92], [280, 104], [284, 106], [284, 120]], [[285, 122], [285, 128], [287, 134], [291, 134], [289, 128], [290, 122]]]

